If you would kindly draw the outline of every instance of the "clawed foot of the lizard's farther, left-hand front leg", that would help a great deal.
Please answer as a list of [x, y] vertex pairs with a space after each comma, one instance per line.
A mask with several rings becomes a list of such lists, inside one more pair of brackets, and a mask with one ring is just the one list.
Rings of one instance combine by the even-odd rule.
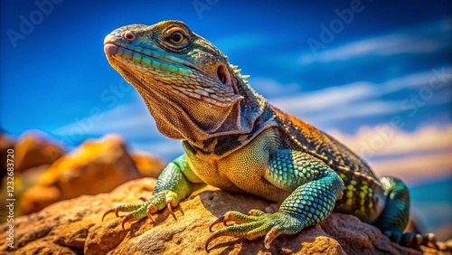
[[115, 215], [119, 217], [119, 212], [126, 212], [127, 214], [122, 217], [121, 222], [122, 229], [125, 230], [124, 225], [127, 222], [137, 222], [145, 218], [146, 216], [151, 220], [151, 222], [155, 222], [152, 215], [165, 208], [165, 206], [168, 208], [168, 212], [171, 213], [175, 218], [173, 207], [175, 207], [177, 203], [174, 201], [174, 198], [170, 193], [171, 192], [165, 191], [162, 193], [154, 194], [152, 198], [147, 200], [144, 197], [140, 197], [139, 199], [144, 201], [145, 203], [118, 205], [116, 208], [110, 209], [106, 213], [104, 213], [104, 215], [102, 216], [102, 222], [104, 221], [105, 216], [107, 216], [109, 213], [115, 213]]

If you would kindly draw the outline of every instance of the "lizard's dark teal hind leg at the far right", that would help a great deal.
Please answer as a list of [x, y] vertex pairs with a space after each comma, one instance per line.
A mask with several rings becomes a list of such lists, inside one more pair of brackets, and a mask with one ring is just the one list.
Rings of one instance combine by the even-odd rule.
[[397, 178], [381, 177], [381, 185], [386, 194], [386, 205], [380, 217], [373, 222], [391, 241], [402, 246], [419, 249], [419, 245], [435, 242], [431, 233], [424, 236], [405, 232], [410, 218], [410, 192], [406, 184]]

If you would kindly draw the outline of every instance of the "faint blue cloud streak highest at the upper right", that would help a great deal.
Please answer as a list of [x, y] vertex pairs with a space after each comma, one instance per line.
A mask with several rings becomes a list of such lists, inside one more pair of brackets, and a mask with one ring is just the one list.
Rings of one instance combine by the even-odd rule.
[[299, 57], [298, 62], [310, 64], [346, 61], [364, 56], [437, 52], [447, 47], [449, 42], [443, 36], [450, 33], [451, 28], [450, 19], [446, 19], [422, 27], [413, 27], [406, 31], [350, 42], [332, 49], [327, 48], [316, 54], [306, 52]]

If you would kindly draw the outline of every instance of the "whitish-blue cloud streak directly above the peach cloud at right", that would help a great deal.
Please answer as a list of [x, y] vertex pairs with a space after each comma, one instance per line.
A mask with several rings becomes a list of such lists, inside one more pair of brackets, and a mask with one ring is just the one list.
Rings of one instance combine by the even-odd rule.
[[[435, 90], [431, 89], [431, 81], [435, 80]], [[411, 90], [419, 93], [423, 88], [432, 93], [424, 100], [425, 105], [444, 104], [451, 101], [450, 87], [446, 86], [452, 80], [452, 68], [441, 67], [434, 71], [410, 73], [380, 83], [357, 81], [350, 84], [316, 90], [295, 96], [270, 99], [269, 102], [280, 109], [297, 116], [312, 116], [315, 122], [337, 120], [344, 118], [369, 117], [403, 111], [400, 102], [410, 99], [410, 93], [397, 100], [383, 100], [382, 96]], [[438, 83], [441, 82], [441, 83]], [[284, 84], [271, 82], [273, 90], [284, 90]], [[442, 86], [438, 86], [442, 85]]]

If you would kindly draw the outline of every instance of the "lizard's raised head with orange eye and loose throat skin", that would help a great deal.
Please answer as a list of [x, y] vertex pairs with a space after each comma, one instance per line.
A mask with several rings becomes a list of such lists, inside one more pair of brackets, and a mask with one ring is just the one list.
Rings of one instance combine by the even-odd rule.
[[197, 143], [225, 133], [245, 134], [263, 108], [256, 99], [243, 100], [254, 97], [254, 91], [237, 67], [182, 22], [120, 27], [107, 35], [104, 51], [140, 93], [166, 137]]

